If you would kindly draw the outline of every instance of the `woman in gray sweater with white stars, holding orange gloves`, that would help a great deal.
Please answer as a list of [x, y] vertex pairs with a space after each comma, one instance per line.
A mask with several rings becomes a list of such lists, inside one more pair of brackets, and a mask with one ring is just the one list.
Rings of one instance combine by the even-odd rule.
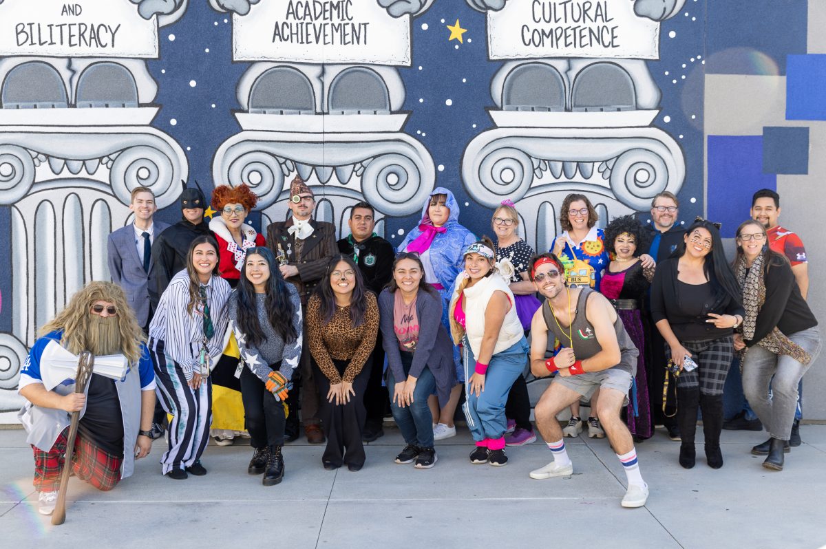
[[228, 312], [242, 361], [235, 375], [240, 376], [245, 424], [254, 447], [247, 472], [263, 473], [263, 485], [276, 485], [284, 476], [283, 403], [301, 357], [301, 301], [295, 286], [284, 282], [268, 248], [247, 252]]

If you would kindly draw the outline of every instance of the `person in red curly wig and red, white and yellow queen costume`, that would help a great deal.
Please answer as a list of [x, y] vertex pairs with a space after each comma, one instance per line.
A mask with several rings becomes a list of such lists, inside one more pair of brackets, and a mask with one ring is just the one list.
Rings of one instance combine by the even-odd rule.
[[[212, 192], [212, 207], [219, 215], [212, 217], [209, 228], [218, 242], [218, 271], [235, 288], [244, 267], [247, 250], [265, 244], [264, 238], [246, 225], [249, 211], [258, 203], [258, 196], [241, 184], [238, 187], [221, 185]], [[235, 338], [227, 343], [224, 354], [212, 370], [212, 425], [210, 436], [219, 446], [232, 444], [244, 432], [244, 405], [241, 386], [235, 371], [239, 361]]]

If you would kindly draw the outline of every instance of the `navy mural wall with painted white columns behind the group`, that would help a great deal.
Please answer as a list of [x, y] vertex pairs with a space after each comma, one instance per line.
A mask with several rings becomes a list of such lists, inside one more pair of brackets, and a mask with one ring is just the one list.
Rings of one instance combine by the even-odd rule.
[[108, 278], [138, 185], [174, 221], [182, 180], [246, 182], [265, 226], [300, 175], [316, 217], [346, 230], [366, 199], [395, 243], [444, 186], [477, 234], [515, 201], [539, 249], [569, 192], [604, 225], [668, 190], [731, 236], [772, 187], [814, 271], [816, 21], [805, 0], [0, 0], [0, 413], [36, 328]]

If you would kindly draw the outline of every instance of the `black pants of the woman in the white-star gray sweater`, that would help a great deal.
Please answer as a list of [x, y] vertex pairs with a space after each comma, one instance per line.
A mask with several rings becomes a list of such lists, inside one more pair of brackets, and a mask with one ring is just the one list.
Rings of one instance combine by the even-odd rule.
[[273, 393], [267, 390], [263, 381], [250, 372], [249, 368], [244, 367], [241, 371], [240, 381], [244, 425], [249, 431], [249, 444], [255, 448], [283, 446], [286, 419], [283, 403], [275, 400]]

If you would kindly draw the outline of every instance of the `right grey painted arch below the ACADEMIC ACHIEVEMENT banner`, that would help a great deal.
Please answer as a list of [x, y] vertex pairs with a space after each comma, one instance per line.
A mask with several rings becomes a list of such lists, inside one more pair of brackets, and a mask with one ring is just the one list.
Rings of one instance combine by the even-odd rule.
[[390, 92], [376, 71], [352, 67], [330, 83], [330, 114], [390, 114]]

